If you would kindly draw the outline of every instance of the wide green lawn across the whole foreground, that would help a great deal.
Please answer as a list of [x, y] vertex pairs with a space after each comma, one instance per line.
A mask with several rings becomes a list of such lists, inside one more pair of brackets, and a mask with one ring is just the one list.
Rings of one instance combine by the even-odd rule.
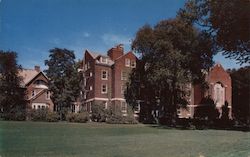
[[250, 132], [0, 121], [0, 157], [250, 157]]

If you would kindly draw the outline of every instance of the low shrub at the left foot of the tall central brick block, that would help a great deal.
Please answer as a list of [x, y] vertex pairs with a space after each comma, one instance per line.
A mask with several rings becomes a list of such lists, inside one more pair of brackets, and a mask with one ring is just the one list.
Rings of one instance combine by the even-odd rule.
[[66, 120], [68, 122], [86, 123], [89, 120], [89, 114], [87, 112], [68, 113]]

